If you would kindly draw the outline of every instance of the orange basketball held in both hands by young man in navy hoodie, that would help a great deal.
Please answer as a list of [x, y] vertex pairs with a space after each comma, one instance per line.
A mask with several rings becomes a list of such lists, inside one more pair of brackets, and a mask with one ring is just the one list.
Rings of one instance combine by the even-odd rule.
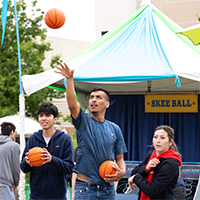
[[34, 147], [29, 150], [28, 152], [28, 160], [30, 161], [30, 164], [35, 167], [42, 166], [42, 163], [44, 160], [42, 160], [41, 152], [43, 149], [41, 147]]

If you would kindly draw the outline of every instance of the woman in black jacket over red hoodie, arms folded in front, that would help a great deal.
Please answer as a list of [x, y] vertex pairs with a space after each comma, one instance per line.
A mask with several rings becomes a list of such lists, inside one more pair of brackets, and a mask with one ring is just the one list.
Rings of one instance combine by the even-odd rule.
[[182, 164], [174, 142], [174, 130], [166, 125], [158, 126], [152, 143], [155, 150], [133, 169], [128, 179], [129, 186], [132, 189], [135, 183], [139, 187], [139, 200], [174, 200], [173, 190]]

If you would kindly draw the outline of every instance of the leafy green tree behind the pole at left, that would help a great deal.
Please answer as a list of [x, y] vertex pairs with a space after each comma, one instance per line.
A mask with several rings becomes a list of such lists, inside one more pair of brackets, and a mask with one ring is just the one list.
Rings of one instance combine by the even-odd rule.
[[[2, 4], [2, 2], [1, 2]], [[32, 16], [27, 16], [27, 5], [17, 2], [18, 28], [20, 38], [21, 69], [23, 74], [43, 72], [42, 61], [45, 51], [50, 51], [50, 43], [45, 42], [47, 30], [42, 28], [44, 12], [36, 9], [37, 0], [31, 2]], [[0, 9], [1, 12], [1, 9]], [[2, 23], [0, 21], [0, 36]], [[14, 5], [8, 1], [6, 32], [3, 46], [0, 46], [0, 117], [16, 114], [19, 110], [19, 70]], [[44, 88], [25, 97], [26, 116], [37, 118], [39, 105], [52, 98], [63, 98], [64, 93]]]

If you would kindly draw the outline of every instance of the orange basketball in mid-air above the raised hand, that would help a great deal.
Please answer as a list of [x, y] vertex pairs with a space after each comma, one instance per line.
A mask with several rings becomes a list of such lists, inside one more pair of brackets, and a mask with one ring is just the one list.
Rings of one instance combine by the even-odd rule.
[[52, 8], [45, 14], [44, 21], [49, 28], [58, 29], [65, 23], [65, 15], [61, 10]]

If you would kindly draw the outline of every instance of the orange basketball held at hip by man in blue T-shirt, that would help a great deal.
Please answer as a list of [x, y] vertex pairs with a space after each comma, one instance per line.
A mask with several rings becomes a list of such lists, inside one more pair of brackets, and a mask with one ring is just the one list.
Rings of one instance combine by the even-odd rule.
[[113, 165], [117, 167], [117, 164], [112, 160], [107, 160], [100, 165], [99, 175], [102, 179], [105, 178], [105, 175], [115, 174], [116, 170], [112, 167]]

